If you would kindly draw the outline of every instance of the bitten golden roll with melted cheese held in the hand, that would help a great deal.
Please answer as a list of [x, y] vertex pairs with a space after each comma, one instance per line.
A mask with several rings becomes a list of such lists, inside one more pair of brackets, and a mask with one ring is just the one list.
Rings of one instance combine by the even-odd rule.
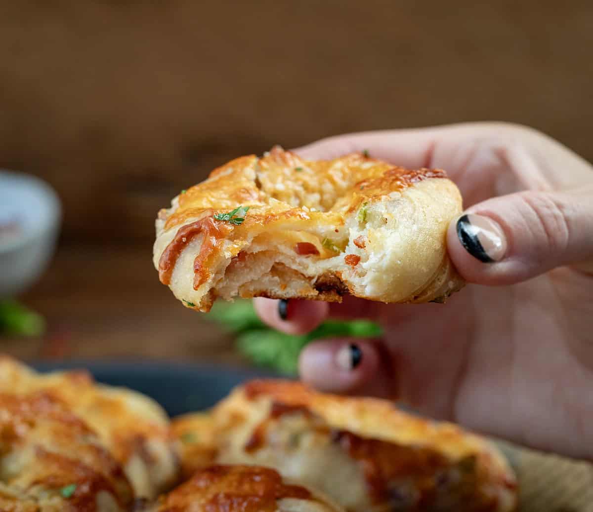
[[154, 264], [183, 301], [217, 297], [444, 301], [463, 286], [445, 247], [461, 196], [444, 171], [361, 153], [235, 159], [162, 209]]

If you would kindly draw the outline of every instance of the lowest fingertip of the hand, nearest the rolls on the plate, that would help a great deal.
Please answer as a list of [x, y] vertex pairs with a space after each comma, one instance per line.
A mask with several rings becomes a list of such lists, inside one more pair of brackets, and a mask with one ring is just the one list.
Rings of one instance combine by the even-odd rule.
[[301, 353], [301, 379], [319, 391], [396, 398], [395, 372], [381, 341], [324, 340]]

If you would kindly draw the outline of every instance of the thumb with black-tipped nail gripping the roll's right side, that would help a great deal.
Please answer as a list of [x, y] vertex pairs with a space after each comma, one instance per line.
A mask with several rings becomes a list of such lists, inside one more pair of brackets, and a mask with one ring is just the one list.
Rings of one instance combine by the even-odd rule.
[[455, 267], [471, 283], [518, 283], [560, 265], [593, 273], [593, 187], [475, 204], [451, 222], [447, 241]]

